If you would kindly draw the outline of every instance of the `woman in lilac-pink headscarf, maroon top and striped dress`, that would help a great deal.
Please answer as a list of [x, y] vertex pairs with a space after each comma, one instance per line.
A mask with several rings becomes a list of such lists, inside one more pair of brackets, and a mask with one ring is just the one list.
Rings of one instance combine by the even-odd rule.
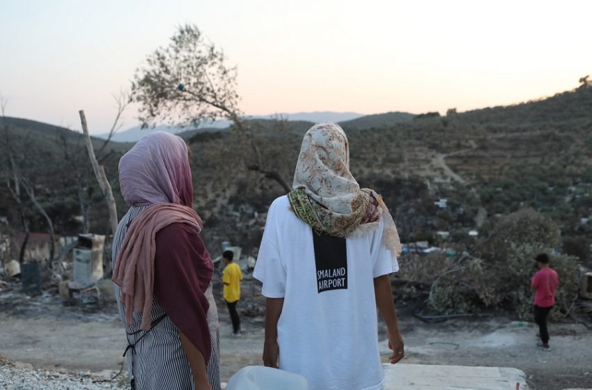
[[119, 181], [130, 210], [114, 236], [113, 281], [132, 389], [220, 389], [214, 267], [187, 145], [146, 135], [121, 157]]

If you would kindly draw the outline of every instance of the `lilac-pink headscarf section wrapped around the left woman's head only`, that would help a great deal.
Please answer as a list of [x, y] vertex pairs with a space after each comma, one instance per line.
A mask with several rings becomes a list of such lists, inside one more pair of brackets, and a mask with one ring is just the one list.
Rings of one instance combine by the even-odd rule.
[[119, 160], [121, 194], [128, 205], [176, 203], [192, 207], [185, 141], [167, 132], [144, 136]]

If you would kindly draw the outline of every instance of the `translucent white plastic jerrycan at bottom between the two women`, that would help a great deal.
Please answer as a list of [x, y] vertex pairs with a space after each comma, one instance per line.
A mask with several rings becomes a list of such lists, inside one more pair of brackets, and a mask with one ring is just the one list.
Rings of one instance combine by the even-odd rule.
[[277, 368], [247, 366], [228, 380], [226, 390], [309, 390], [309, 381]]

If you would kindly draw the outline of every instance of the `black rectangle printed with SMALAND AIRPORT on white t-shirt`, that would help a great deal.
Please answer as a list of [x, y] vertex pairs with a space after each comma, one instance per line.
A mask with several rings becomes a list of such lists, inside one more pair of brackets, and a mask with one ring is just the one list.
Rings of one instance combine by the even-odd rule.
[[313, 232], [313, 243], [319, 294], [329, 290], [347, 290], [348, 254], [345, 238], [318, 235]]

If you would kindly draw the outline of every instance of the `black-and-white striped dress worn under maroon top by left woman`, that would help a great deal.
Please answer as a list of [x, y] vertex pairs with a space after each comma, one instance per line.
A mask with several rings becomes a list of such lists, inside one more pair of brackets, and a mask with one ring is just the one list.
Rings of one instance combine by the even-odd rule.
[[[127, 232], [127, 225], [137, 217], [146, 206], [132, 207], [123, 216], [117, 227], [113, 240], [113, 268], [117, 262], [119, 249]], [[157, 297], [154, 297], [152, 306], [153, 329], [148, 332], [141, 330], [141, 314], [134, 313], [134, 324], [127, 327], [123, 303], [121, 302], [121, 288], [115, 285], [119, 317], [125, 327], [128, 347], [125, 354], [127, 368], [130, 376], [134, 378], [135, 389], [166, 389], [166, 390], [194, 390], [194, 381], [189, 368], [189, 361], [179, 339], [179, 329], [173, 324], [171, 318], [160, 306]], [[208, 379], [212, 390], [220, 390], [219, 373], [219, 329], [218, 311], [212, 283], [205, 292], [205, 297], [210, 302], [208, 310], [208, 326], [212, 341], [212, 355], [208, 361]]]

